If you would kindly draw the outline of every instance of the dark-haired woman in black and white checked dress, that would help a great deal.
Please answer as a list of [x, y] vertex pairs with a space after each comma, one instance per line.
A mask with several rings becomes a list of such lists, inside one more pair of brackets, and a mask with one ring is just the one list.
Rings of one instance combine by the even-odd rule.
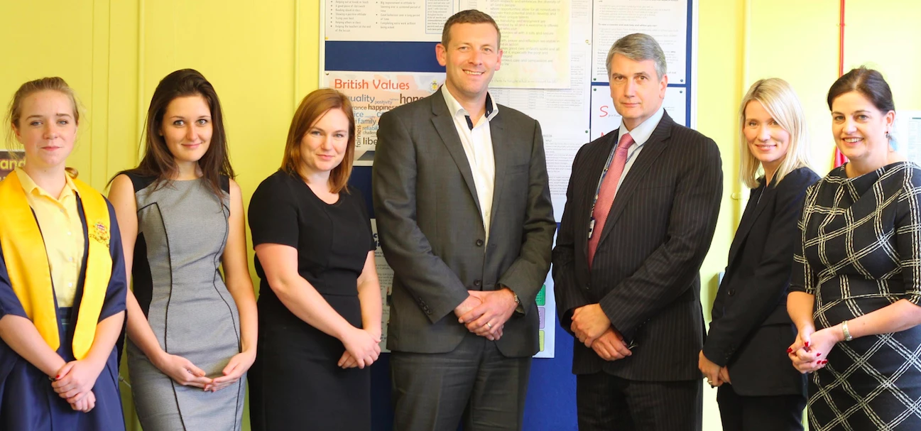
[[849, 162], [806, 192], [787, 299], [810, 430], [921, 429], [921, 168], [894, 150], [879, 72], [838, 78], [828, 107]]

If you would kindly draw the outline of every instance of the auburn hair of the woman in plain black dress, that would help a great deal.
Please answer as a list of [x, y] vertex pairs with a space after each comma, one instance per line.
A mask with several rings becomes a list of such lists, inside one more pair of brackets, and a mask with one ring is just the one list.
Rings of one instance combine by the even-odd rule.
[[300, 141], [307, 134], [310, 127], [330, 110], [341, 110], [348, 118], [348, 144], [345, 146], [345, 156], [339, 166], [330, 172], [330, 192], [348, 192], [346, 184], [352, 175], [352, 159], [355, 157], [355, 114], [352, 112], [352, 102], [343, 93], [332, 88], [320, 88], [310, 92], [300, 101], [300, 106], [291, 119], [288, 128], [288, 137], [285, 144], [285, 155], [282, 156], [282, 170], [289, 175], [300, 174]]

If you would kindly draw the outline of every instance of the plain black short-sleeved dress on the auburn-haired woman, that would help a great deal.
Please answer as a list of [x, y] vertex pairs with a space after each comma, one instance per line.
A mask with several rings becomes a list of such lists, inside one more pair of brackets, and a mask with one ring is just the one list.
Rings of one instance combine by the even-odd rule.
[[[365, 200], [355, 188], [326, 204], [297, 176], [278, 171], [250, 201], [253, 247], [297, 249], [297, 272], [360, 328], [357, 278], [375, 250]], [[250, 370], [252, 429], [370, 429], [369, 368], [336, 366], [338, 339], [300, 320], [275, 296], [256, 258], [259, 347]]]

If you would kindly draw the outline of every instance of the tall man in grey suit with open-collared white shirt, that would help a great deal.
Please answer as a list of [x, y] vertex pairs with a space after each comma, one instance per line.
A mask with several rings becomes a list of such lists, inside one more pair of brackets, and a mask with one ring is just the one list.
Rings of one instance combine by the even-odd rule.
[[436, 54], [445, 85], [380, 117], [374, 160], [394, 428], [519, 430], [556, 227], [541, 126], [489, 96], [492, 17], [450, 17]]

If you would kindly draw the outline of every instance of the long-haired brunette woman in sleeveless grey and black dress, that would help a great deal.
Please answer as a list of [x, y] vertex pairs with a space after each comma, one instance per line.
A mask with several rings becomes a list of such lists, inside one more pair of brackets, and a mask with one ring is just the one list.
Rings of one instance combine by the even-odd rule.
[[134, 281], [128, 369], [146, 431], [241, 427], [257, 318], [226, 143], [214, 87], [194, 70], [173, 72], [151, 99], [144, 159], [111, 182]]

